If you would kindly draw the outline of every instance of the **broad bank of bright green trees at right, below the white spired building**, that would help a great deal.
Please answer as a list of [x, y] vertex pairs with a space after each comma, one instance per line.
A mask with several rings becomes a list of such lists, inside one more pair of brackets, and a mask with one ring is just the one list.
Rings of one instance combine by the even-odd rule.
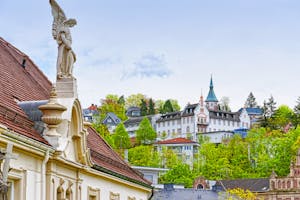
[[227, 143], [204, 142], [195, 159], [194, 170], [207, 179], [269, 177], [289, 173], [292, 155], [300, 147], [300, 128], [283, 134], [279, 130], [253, 129], [245, 139], [234, 136]]

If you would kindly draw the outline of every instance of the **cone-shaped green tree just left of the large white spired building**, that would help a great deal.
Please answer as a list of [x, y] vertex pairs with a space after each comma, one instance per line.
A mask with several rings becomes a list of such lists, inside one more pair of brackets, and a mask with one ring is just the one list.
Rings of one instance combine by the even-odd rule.
[[156, 139], [156, 132], [153, 129], [149, 119], [144, 117], [138, 130], [136, 131], [136, 140], [139, 144], [151, 144]]

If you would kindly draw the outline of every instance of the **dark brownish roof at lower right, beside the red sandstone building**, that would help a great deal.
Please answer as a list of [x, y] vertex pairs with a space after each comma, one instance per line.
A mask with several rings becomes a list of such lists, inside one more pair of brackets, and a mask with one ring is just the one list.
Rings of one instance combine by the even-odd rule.
[[220, 180], [216, 185], [221, 185], [223, 190], [241, 188], [251, 192], [266, 192], [269, 190], [269, 178]]

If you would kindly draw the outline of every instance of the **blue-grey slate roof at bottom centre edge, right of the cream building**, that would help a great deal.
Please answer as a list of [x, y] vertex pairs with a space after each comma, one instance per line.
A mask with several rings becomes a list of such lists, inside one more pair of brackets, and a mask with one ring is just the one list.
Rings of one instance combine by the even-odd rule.
[[218, 193], [212, 190], [173, 189], [154, 191], [151, 200], [217, 200]]

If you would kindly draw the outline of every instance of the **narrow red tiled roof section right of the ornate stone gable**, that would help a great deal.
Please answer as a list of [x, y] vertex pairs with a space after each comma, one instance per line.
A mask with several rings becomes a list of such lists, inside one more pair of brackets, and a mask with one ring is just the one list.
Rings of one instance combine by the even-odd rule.
[[132, 169], [92, 128], [88, 129], [87, 145], [96, 169], [150, 187], [151, 183]]

